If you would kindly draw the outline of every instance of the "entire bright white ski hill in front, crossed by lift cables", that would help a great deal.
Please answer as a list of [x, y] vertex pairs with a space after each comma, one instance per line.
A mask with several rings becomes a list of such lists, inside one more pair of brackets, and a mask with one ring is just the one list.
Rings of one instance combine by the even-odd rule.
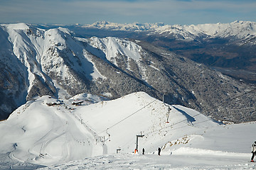
[[[0, 123], [0, 169], [255, 169], [255, 128], [223, 125], [144, 92], [112, 101], [43, 96]], [[144, 137], [134, 154], [136, 135]]]

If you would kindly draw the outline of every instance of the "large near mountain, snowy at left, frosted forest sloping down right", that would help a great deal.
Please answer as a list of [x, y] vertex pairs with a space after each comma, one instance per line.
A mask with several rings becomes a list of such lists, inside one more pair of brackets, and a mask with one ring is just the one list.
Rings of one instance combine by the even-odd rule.
[[2, 24], [0, 41], [1, 118], [36, 96], [144, 91], [216, 119], [255, 120], [255, 95], [242, 95], [251, 86], [147, 42], [77, 38], [67, 28], [25, 23]]

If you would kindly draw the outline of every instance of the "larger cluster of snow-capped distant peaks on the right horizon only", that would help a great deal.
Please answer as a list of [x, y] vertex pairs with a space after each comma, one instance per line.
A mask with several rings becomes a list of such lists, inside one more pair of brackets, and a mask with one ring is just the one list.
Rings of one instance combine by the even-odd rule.
[[190, 26], [163, 26], [156, 32], [164, 35], [181, 36], [178, 39], [193, 40], [195, 38], [238, 38], [245, 39], [256, 35], [256, 23], [235, 21], [233, 23], [200, 24]]

